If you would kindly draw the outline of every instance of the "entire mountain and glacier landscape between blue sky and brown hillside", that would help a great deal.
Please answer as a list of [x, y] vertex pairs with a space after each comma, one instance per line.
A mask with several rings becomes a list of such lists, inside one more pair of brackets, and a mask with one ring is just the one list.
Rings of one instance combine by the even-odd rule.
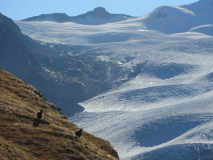
[[120, 159], [213, 158], [213, 0], [141, 17], [98, 7], [14, 22], [3, 26], [17, 36], [7, 36], [14, 48], [1, 51], [0, 67], [109, 141]]

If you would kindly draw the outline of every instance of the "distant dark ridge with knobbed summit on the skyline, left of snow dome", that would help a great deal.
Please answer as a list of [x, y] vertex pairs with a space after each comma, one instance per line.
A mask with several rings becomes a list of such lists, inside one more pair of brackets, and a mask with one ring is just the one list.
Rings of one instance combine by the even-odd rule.
[[85, 14], [69, 17], [65, 13], [53, 13], [42, 14], [40, 16], [34, 16], [23, 21], [53, 21], [53, 22], [74, 22], [84, 25], [101, 25], [105, 23], [119, 22], [132, 18], [132, 16], [125, 14], [111, 14], [103, 7], [97, 7], [93, 11], [89, 11]]

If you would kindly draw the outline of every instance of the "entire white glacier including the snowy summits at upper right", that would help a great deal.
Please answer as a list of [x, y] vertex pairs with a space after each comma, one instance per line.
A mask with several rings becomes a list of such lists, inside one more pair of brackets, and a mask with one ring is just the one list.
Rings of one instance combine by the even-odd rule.
[[[145, 16], [101, 26], [16, 23], [50, 48], [89, 47], [63, 55], [89, 55], [111, 64], [104, 74], [113, 87], [81, 102], [85, 112], [69, 119], [109, 140], [122, 160], [211, 159], [211, 3], [161, 6]], [[119, 68], [113, 70], [113, 65]], [[124, 72], [116, 76], [119, 70]]]

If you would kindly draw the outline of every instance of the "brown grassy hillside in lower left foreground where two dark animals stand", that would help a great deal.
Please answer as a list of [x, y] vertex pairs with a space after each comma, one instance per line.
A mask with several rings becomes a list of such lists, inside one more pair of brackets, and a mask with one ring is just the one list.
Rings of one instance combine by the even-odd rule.
[[[43, 118], [36, 113], [43, 109]], [[119, 159], [109, 142], [83, 131], [40, 91], [0, 69], [2, 159]]]

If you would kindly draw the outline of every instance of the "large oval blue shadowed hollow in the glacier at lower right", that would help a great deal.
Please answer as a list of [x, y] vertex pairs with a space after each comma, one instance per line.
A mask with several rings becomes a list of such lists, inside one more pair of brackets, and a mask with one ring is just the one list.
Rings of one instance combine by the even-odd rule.
[[135, 139], [140, 146], [153, 147], [169, 142], [202, 122], [196, 119], [199, 115], [173, 116], [158, 119], [140, 127], [135, 132]]

